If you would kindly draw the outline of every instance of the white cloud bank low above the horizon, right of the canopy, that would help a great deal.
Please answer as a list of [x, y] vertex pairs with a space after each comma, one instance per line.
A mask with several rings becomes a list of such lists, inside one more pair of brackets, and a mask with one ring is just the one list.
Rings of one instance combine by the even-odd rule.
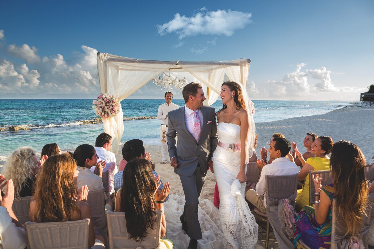
[[[331, 71], [326, 67], [302, 71], [305, 63], [297, 64], [294, 72], [286, 74], [281, 80], [268, 80], [256, 87], [253, 82], [247, 86], [249, 96], [260, 97], [297, 97], [315, 96], [317, 93], [344, 92], [357, 93], [357, 87], [336, 87], [331, 80]], [[312, 83], [317, 81], [317, 83]]]

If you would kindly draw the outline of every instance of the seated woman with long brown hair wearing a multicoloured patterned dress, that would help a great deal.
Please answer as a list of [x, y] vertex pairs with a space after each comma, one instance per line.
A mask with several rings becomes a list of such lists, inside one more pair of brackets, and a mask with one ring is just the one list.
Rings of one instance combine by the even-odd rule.
[[342, 140], [332, 147], [329, 165], [332, 184], [322, 187], [321, 178], [313, 175], [315, 208], [304, 206], [298, 214], [294, 226], [295, 248], [298, 239], [312, 249], [330, 248], [332, 198], [335, 199], [337, 213], [341, 214], [339, 218], [343, 222], [340, 225], [346, 226], [347, 235], [358, 235], [361, 230], [368, 200], [365, 157], [358, 146]]

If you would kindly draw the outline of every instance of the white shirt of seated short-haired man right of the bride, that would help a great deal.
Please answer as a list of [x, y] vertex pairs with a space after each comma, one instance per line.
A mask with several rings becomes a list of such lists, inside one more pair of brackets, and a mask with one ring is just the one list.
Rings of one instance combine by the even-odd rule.
[[294, 175], [298, 173], [297, 165], [288, 161], [287, 158], [277, 158], [271, 164], [265, 165], [262, 168], [260, 180], [258, 180], [256, 185], [257, 194], [264, 195], [264, 206], [266, 207], [266, 175]]

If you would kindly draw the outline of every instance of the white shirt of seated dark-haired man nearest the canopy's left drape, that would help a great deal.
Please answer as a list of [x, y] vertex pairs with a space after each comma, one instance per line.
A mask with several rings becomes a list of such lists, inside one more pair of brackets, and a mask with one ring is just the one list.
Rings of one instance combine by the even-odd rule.
[[[107, 162], [102, 171], [109, 171], [109, 193], [114, 193], [114, 174], [118, 172], [116, 155], [103, 147], [95, 147], [95, 150], [96, 154], [99, 156], [97, 161], [99, 162], [102, 160]], [[93, 172], [94, 170], [95, 167], [91, 167], [91, 171]]]

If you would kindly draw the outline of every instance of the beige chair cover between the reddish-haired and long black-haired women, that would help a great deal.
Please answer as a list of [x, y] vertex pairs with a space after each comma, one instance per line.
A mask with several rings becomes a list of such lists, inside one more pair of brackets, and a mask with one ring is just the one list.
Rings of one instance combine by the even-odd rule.
[[87, 203], [91, 208], [91, 216], [95, 227], [95, 234], [107, 240], [107, 222], [105, 220], [105, 192], [104, 189], [90, 190]]

